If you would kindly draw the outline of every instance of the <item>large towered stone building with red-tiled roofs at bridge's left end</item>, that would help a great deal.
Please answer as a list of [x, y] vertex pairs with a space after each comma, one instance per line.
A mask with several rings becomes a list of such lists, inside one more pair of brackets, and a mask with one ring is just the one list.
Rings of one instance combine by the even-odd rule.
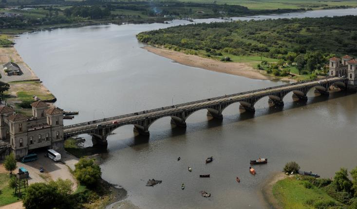
[[10, 142], [19, 159], [38, 148], [62, 150], [63, 110], [41, 101], [31, 104], [32, 117], [7, 106], [0, 106], [0, 140]]

